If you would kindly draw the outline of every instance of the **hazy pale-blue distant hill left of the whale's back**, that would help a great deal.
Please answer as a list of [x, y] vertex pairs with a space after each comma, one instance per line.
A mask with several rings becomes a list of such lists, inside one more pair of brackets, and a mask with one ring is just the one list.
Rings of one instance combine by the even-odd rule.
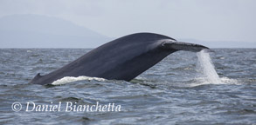
[[0, 18], [0, 48], [95, 48], [111, 38], [50, 16]]

